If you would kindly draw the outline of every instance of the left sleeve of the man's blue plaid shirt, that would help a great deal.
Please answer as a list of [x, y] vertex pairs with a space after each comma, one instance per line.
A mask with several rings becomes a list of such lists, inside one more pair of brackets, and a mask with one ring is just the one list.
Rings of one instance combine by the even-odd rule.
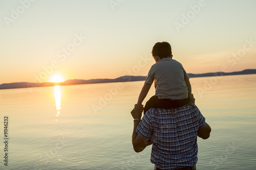
[[142, 117], [139, 126], [136, 129], [138, 135], [140, 135], [144, 139], [150, 139], [152, 136], [152, 123], [151, 123], [151, 114], [147, 112]]

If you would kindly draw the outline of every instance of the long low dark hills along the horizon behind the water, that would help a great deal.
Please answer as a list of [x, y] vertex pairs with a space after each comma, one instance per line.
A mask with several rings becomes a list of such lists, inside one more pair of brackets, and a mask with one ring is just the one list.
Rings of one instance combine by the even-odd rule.
[[[212, 77], [212, 76], [230, 76], [230, 75], [249, 75], [256, 74], [256, 69], [245, 69], [243, 71], [236, 72], [209, 72], [204, 74], [187, 74], [190, 78], [195, 77]], [[132, 82], [132, 81], [143, 81], [146, 76], [122, 76], [116, 79], [91, 79], [91, 80], [67, 80], [61, 83], [4, 83], [0, 85], [0, 89], [10, 89], [10, 88], [28, 88], [28, 87], [47, 87], [47, 86], [65, 86], [65, 85], [76, 85], [76, 84], [95, 84], [95, 83], [113, 83], [113, 82]]]

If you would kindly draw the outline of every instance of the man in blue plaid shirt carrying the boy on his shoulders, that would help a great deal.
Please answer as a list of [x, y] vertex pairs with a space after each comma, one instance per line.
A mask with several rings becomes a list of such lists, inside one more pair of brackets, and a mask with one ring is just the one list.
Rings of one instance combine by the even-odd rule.
[[141, 119], [143, 106], [136, 104], [131, 111], [134, 118], [132, 143], [135, 152], [153, 144], [151, 162], [156, 170], [196, 170], [197, 136], [207, 139], [211, 128], [195, 105], [190, 102], [173, 109], [151, 108]]

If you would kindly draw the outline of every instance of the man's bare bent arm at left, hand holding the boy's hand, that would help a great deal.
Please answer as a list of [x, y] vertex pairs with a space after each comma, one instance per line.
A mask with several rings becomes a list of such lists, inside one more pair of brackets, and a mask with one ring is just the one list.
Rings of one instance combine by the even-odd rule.
[[141, 119], [141, 115], [142, 115], [142, 111], [143, 111], [142, 105], [140, 107], [138, 107], [136, 105], [135, 105], [134, 109], [131, 111], [131, 114], [132, 114], [133, 118], [136, 118], [139, 120], [134, 120], [132, 143], [133, 143], [134, 151], [141, 152], [146, 148], [146, 146], [148, 145], [148, 141], [150, 139], [144, 139], [140, 135], [138, 135], [138, 133], [136, 132], [136, 129], [140, 124], [140, 119]]

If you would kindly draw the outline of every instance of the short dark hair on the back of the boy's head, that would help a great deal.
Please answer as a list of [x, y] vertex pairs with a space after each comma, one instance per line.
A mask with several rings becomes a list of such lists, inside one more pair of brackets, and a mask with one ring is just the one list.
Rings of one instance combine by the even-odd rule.
[[157, 42], [152, 49], [152, 55], [160, 59], [168, 58], [172, 55], [172, 47], [168, 42]]

